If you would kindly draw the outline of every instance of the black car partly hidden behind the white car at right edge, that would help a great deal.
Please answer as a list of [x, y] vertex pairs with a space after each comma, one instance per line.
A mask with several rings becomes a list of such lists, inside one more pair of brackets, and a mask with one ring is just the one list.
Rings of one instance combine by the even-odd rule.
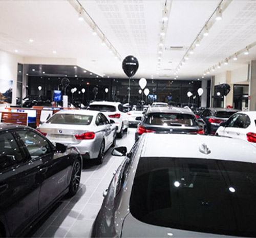
[[201, 113], [201, 118], [206, 123], [207, 134], [215, 134], [222, 122], [225, 122], [238, 110], [222, 109], [222, 108], [207, 108]]

